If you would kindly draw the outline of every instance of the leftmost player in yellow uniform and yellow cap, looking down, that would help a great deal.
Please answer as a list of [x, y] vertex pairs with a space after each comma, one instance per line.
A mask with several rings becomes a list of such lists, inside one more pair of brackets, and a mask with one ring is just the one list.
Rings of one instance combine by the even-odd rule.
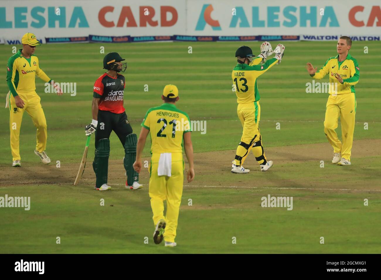
[[6, 82], [10, 92], [6, 97], [6, 108], [9, 106], [9, 127], [11, 131], [11, 152], [13, 156], [12, 166], [21, 166], [19, 149], [19, 136], [22, 115], [26, 111], [37, 127], [37, 144], [34, 153], [40, 157], [42, 163], [49, 164], [50, 158], [45, 152], [48, 134], [46, 131], [46, 119], [40, 103], [40, 96], [36, 93], [35, 76], [37, 74], [44, 82], [52, 83], [54, 91], [62, 95], [58, 83], [54, 83], [40, 68], [34, 51], [37, 41], [33, 33], [26, 33], [21, 38], [22, 49], [8, 59]]

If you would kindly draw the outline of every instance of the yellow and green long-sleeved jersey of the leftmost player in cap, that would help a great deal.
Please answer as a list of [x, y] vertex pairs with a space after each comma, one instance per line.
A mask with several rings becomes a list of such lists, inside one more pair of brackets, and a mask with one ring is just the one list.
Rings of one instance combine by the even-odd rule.
[[6, 83], [13, 96], [18, 95], [17, 91], [22, 93], [33, 92], [36, 90], [36, 74], [44, 82], [50, 82], [51, 79], [38, 66], [37, 56], [31, 54], [30, 58], [24, 58], [19, 50], [8, 59]]

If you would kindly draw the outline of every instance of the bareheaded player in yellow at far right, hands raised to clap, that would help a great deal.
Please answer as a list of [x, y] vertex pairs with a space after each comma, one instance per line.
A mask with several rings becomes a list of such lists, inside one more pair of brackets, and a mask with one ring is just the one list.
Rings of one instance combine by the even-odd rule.
[[[314, 79], [322, 79], [330, 74], [330, 84], [339, 83], [337, 94], [330, 92], [325, 109], [324, 133], [333, 147], [332, 163], [338, 165], [351, 165], [351, 149], [356, 115], [355, 84], [359, 82], [360, 68], [357, 60], [348, 52], [352, 40], [342, 36], [337, 42], [338, 55], [328, 58], [322, 69], [316, 71], [311, 63], [307, 63], [307, 71]], [[335, 129], [338, 118], [341, 120], [341, 136], [343, 143], [337, 137]]]

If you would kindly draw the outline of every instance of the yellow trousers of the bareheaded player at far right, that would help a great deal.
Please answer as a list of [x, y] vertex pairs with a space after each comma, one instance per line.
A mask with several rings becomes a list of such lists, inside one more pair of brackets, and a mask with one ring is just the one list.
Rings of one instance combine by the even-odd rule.
[[[338, 118], [341, 120], [341, 144], [335, 129], [338, 126]], [[353, 133], [355, 130], [356, 95], [355, 93], [343, 93], [330, 95], [327, 101], [324, 119], [324, 133], [333, 147], [334, 153], [340, 153], [341, 157], [351, 160]]]

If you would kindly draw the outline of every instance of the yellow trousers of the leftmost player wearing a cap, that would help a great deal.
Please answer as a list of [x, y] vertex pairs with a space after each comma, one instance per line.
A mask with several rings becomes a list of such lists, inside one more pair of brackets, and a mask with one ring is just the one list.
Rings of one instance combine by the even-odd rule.
[[18, 108], [14, 101], [14, 97], [10, 94], [10, 118], [9, 128], [11, 132], [11, 151], [13, 160], [21, 160], [20, 157], [20, 128], [22, 122], [22, 115], [26, 111], [33, 120], [34, 126], [37, 127], [36, 135], [36, 150], [37, 152], [43, 152], [46, 148], [46, 140], [48, 133], [46, 131], [46, 119], [44, 111], [42, 110], [40, 103], [40, 96], [35, 91], [29, 92], [17, 92], [20, 98], [25, 102], [24, 108]]

